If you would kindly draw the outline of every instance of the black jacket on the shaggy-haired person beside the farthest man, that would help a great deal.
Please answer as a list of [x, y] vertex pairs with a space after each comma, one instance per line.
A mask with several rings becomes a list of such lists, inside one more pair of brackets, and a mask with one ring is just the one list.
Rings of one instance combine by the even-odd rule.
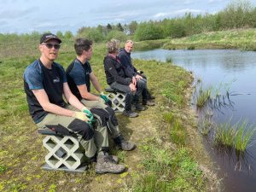
[[106, 55], [104, 57], [104, 69], [108, 84], [112, 84], [115, 81], [119, 84], [131, 84], [131, 81], [127, 78], [132, 79], [132, 73], [121, 65], [118, 58], [113, 58], [111, 55]]

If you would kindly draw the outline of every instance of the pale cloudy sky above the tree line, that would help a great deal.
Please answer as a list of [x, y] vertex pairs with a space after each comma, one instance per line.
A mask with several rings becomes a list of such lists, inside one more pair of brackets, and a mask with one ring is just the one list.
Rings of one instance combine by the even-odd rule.
[[[82, 26], [217, 13], [231, 0], [0, 0], [0, 33], [67, 32]], [[250, 0], [253, 6], [256, 0]]]

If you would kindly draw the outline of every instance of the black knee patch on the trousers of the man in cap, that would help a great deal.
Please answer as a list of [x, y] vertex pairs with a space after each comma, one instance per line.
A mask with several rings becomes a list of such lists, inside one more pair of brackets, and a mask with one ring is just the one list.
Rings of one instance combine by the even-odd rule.
[[89, 141], [94, 136], [94, 131], [90, 125], [80, 119], [74, 119], [67, 128], [80, 135], [85, 141]]

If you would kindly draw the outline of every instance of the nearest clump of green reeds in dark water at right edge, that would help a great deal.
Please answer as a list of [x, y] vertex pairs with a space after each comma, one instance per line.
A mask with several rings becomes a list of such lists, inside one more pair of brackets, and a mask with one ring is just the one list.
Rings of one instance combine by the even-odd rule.
[[238, 122], [236, 125], [224, 123], [218, 125], [214, 134], [214, 142], [228, 148], [235, 148], [236, 151], [245, 151], [251, 142], [255, 128], [247, 126], [247, 122]]

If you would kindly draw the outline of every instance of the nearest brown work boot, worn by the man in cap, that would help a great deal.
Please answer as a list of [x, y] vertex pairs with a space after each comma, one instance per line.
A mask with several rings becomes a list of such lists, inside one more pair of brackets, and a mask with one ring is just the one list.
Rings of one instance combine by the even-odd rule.
[[125, 171], [124, 165], [115, 164], [108, 155], [99, 153], [96, 162], [96, 173], [121, 173]]

